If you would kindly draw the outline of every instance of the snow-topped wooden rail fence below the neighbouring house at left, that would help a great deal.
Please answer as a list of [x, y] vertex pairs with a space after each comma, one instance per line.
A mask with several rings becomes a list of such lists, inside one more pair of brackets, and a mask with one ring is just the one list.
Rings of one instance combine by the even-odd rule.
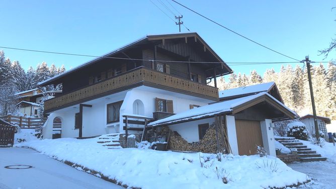
[[12, 125], [18, 125], [20, 128], [36, 128], [43, 126], [45, 120], [42, 118], [26, 118], [20, 116], [7, 115], [0, 117]]

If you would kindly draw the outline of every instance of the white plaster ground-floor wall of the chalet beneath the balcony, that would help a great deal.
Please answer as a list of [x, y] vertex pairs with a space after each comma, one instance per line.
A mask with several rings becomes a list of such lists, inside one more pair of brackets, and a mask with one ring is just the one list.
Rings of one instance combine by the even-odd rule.
[[[142, 102], [143, 116], [153, 117], [155, 112], [155, 98], [172, 100], [174, 113], [189, 110], [189, 105], [205, 106], [213, 102], [207, 99], [187, 96], [176, 92], [156, 89], [147, 86], [140, 86], [127, 91], [110, 94], [106, 97], [95, 99], [81, 104], [92, 105], [83, 107], [82, 137], [97, 136], [107, 133], [124, 133], [123, 113], [134, 114], [134, 101]], [[120, 121], [107, 124], [107, 105], [119, 101], [124, 101], [120, 108]], [[74, 129], [75, 113], [79, 112], [79, 105], [74, 105], [50, 114], [45, 124], [44, 138], [52, 138], [52, 122], [55, 117], [60, 117], [62, 121], [61, 137], [78, 137], [79, 129]], [[211, 122], [212, 123], [212, 122]], [[133, 132], [133, 131], [132, 131]], [[197, 129], [198, 132], [198, 129]], [[198, 134], [197, 134], [198, 137]]]

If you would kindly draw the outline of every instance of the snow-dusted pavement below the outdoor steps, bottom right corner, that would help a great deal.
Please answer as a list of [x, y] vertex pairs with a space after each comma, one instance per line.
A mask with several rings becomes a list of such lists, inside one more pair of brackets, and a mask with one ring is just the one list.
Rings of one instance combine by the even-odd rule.
[[327, 161], [298, 162], [288, 164], [292, 169], [307, 174], [313, 184], [300, 188], [328, 189], [336, 188], [336, 164]]

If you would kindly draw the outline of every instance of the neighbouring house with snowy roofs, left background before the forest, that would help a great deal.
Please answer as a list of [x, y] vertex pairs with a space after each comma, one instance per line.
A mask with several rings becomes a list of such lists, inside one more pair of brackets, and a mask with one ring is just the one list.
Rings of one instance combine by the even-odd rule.
[[20, 107], [20, 113], [28, 117], [38, 117], [38, 109], [40, 107], [39, 103], [42, 98], [44, 96], [46, 99], [53, 98], [53, 95], [58, 92], [61, 91], [43, 92], [38, 88], [17, 92], [15, 95], [18, 96], [19, 99], [17, 106]]

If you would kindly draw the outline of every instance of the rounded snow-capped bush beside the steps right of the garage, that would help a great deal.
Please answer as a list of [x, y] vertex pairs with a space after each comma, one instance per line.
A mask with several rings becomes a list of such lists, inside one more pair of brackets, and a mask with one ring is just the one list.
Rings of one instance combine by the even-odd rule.
[[300, 140], [308, 140], [309, 135], [306, 126], [302, 122], [292, 122], [287, 125], [287, 136]]

